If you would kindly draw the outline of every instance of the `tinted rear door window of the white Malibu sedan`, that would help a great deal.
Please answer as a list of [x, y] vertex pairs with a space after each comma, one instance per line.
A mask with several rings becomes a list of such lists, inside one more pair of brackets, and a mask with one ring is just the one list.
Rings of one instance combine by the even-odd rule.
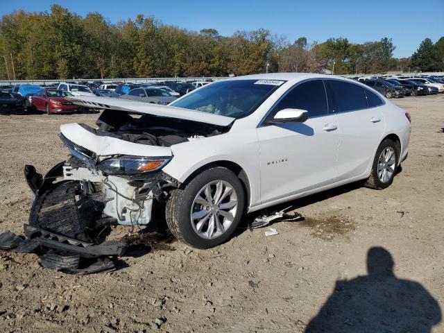
[[368, 108], [364, 88], [340, 80], [325, 80], [328, 99], [334, 112], [347, 112]]

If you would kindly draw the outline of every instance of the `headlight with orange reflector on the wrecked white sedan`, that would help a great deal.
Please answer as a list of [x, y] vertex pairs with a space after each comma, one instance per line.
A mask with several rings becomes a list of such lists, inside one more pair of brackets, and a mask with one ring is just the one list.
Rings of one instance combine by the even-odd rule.
[[162, 169], [169, 162], [167, 157], [119, 156], [103, 160], [97, 167], [109, 175], [139, 175]]

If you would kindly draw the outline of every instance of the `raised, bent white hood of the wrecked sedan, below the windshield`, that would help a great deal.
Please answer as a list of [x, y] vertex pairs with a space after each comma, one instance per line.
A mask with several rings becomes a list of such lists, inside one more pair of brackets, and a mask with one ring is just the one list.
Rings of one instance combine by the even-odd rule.
[[216, 126], [228, 126], [235, 119], [225, 117], [219, 114], [189, 110], [184, 108], [175, 108], [168, 105], [158, 105], [153, 103], [144, 103], [131, 101], [130, 99], [112, 99], [110, 97], [89, 97], [76, 96], [67, 97], [72, 103], [85, 106], [87, 108], [103, 108], [110, 110], [135, 112], [139, 114], [153, 114], [160, 117], [169, 117], [176, 119], [185, 119], [198, 121], [200, 123], [210, 123]]

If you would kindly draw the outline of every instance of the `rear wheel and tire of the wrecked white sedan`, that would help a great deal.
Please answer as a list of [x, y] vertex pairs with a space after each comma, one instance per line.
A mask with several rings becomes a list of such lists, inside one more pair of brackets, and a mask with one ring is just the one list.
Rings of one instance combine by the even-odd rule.
[[[388, 161], [384, 159], [383, 153], [386, 156], [390, 155]], [[393, 155], [391, 155], [392, 153]], [[396, 169], [398, 169], [399, 155], [398, 145], [391, 139], [384, 139], [377, 148], [366, 186], [373, 189], [385, 189], [389, 187], [393, 182], [393, 178], [395, 178]], [[382, 163], [379, 163], [381, 161]]]

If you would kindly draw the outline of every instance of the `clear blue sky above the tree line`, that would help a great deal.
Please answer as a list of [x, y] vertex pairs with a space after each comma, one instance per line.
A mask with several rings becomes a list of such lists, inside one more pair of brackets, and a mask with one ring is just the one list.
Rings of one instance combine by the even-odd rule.
[[[164, 24], [200, 31], [215, 28], [221, 35], [266, 28], [289, 40], [309, 42], [346, 37], [350, 42], [393, 38], [395, 57], [411, 56], [420, 42], [444, 35], [444, 0], [0, 0], [0, 15], [14, 10], [41, 12], [58, 3], [78, 15], [100, 12], [111, 22], [142, 13]], [[413, 23], [409, 23], [413, 22]]]

